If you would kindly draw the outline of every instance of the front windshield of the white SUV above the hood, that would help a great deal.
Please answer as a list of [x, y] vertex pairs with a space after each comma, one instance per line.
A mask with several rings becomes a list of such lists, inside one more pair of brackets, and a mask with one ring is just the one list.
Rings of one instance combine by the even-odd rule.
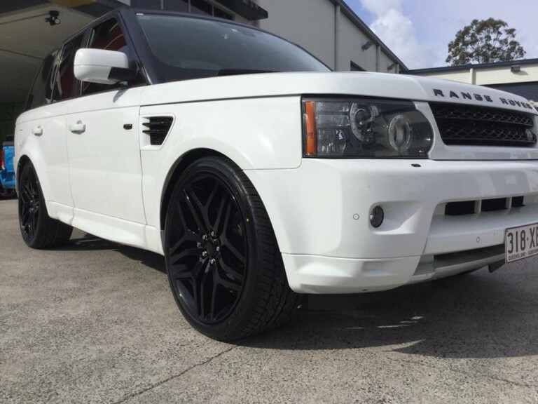
[[137, 15], [165, 81], [261, 72], [329, 72], [305, 50], [241, 25], [180, 15]]

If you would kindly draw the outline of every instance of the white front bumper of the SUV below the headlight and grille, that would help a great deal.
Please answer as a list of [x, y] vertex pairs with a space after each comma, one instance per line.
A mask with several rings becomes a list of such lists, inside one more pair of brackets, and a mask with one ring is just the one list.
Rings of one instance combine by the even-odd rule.
[[[504, 260], [506, 228], [538, 221], [538, 161], [304, 159], [247, 175], [296, 292], [387, 290], [482, 267]], [[492, 198], [504, 208], [481, 211]], [[446, 215], [459, 201], [476, 209]], [[374, 206], [385, 211], [377, 229]]]

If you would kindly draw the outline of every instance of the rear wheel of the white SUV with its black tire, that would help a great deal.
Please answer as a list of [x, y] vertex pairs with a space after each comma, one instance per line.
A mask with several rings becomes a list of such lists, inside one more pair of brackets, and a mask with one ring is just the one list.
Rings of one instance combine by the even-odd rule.
[[36, 170], [28, 162], [19, 180], [19, 224], [25, 243], [36, 249], [59, 247], [69, 241], [73, 227], [48, 216]]

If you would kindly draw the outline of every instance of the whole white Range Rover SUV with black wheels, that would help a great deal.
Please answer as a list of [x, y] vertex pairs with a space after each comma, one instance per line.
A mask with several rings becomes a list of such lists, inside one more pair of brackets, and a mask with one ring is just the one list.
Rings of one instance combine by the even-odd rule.
[[165, 257], [209, 337], [299, 294], [497, 269], [538, 253], [537, 112], [491, 88], [330, 72], [226, 20], [125, 8], [44, 60], [15, 133], [22, 237], [73, 227]]

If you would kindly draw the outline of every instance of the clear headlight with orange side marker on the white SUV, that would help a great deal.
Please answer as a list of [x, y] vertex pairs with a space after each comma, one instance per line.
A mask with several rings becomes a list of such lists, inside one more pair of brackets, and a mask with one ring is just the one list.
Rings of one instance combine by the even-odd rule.
[[303, 100], [305, 156], [426, 159], [433, 138], [410, 101]]

